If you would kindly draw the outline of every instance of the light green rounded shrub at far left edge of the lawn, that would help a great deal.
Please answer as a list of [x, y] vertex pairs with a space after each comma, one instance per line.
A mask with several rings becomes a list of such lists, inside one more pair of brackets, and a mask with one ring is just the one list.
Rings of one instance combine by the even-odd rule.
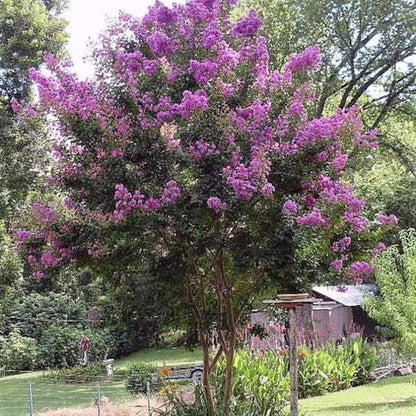
[[39, 346], [35, 339], [23, 337], [16, 328], [1, 351], [0, 364], [6, 371], [31, 371], [39, 368]]

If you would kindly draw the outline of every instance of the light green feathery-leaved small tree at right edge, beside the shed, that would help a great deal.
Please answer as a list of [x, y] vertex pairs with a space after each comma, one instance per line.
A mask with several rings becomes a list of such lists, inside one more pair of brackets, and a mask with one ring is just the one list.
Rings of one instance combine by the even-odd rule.
[[400, 232], [400, 245], [389, 247], [377, 259], [378, 293], [364, 304], [382, 330], [403, 351], [416, 353], [416, 231]]

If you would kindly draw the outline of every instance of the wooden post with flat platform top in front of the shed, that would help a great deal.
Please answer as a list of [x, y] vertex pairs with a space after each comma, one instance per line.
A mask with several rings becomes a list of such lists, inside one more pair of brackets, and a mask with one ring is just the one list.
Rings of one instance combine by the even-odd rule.
[[298, 416], [298, 355], [297, 355], [297, 310], [316, 302], [307, 293], [278, 295], [278, 300], [266, 300], [263, 303], [286, 308], [289, 312], [289, 372], [290, 372], [290, 415]]

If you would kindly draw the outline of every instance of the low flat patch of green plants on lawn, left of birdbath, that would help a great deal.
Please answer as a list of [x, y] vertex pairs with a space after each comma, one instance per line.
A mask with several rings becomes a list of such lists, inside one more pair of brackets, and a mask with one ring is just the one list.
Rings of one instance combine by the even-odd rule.
[[90, 383], [107, 376], [104, 364], [89, 364], [86, 367], [51, 370], [43, 375], [48, 380], [64, 383]]

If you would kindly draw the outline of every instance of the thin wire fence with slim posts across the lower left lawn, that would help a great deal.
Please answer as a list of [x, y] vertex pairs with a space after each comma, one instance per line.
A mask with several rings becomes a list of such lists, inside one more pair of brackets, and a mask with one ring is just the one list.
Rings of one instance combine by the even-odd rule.
[[125, 382], [116, 375], [89, 383], [58, 382], [38, 373], [3, 377], [0, 416], [151, 416], [150, 387], [147, 397], [137, 398], [128, 393]]

